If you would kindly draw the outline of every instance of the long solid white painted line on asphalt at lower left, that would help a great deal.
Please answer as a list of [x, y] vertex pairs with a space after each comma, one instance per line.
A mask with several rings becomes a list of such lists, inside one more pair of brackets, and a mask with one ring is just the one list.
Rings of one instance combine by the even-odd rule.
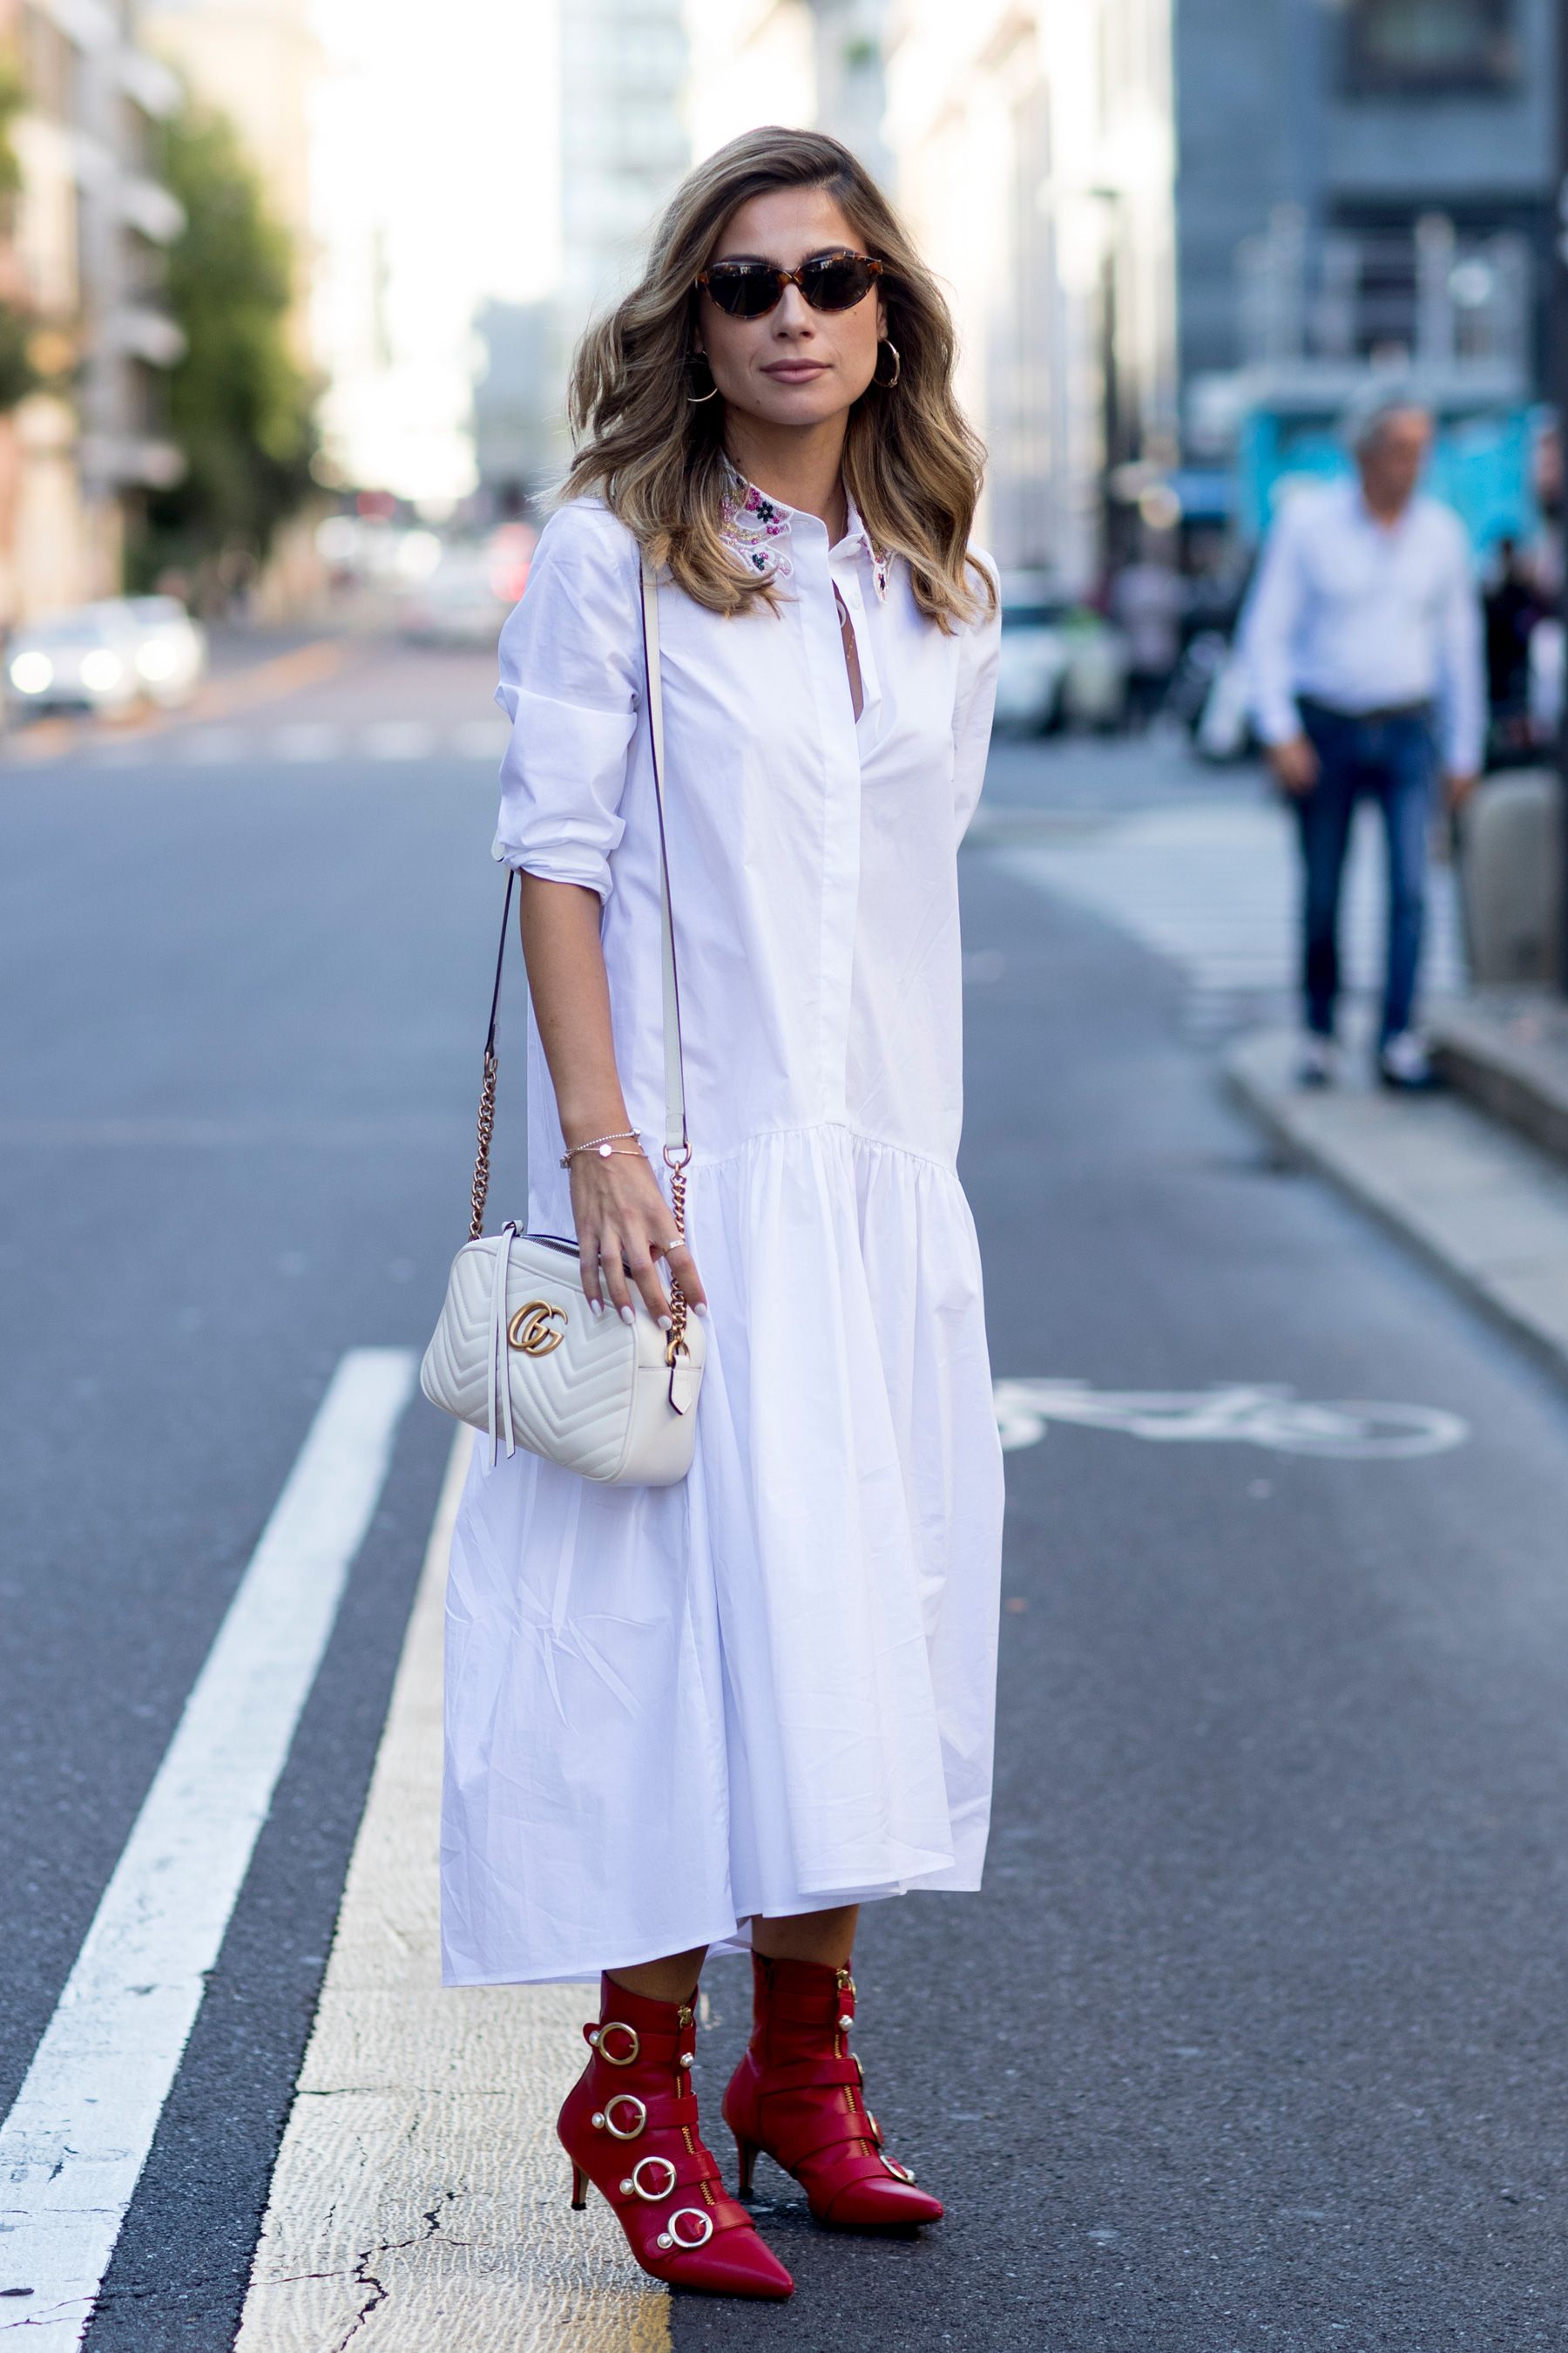
[[0, 2125], [0, 2334], [28, 2353], [92, 2318], [411, 1386], [407, 1348], [341, 1360]]

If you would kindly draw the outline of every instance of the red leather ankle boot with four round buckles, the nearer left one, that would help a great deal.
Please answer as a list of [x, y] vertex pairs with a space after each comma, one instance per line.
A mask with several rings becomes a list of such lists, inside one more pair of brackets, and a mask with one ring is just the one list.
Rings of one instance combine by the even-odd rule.
[[599, 1981], [599, 2024], [585, 2026], [590, 2061], [555, 2125], [571, 2158], [571, 2205], [604, 2191], [632, 2254], [656, 2280], [705, 2297], [790, 2297], [795, 2280], [757, 2238], [752, 2217], [724, 2195], [703, 2148], [691, 2089], [696, 2017], [684, 2002], [649, 2002]]

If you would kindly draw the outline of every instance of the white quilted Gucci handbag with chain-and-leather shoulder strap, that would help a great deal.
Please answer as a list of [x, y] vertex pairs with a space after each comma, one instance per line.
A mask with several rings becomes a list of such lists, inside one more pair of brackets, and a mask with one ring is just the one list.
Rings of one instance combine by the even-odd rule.
[[[691, 1146], [665, 845], [658, 588], [646, 562], [642, 647], [663, 882], [665, 1165], [675, 1231], [684, 1235], [684, 1169]], [[672, 1487], [691, 1468], [696, 1400], [703, 1384], [703, 1327], [686, 1318], [679, 1282], [670, 1282], [668, 1334], [635, 1292], [635, 1322], [625, 1325], [618, 1315], [588, 1313], [576, 1242], [555, 1233], [524, 1233], [510, 1219], [501, 1233], [484, 1233], [489, 1139], [496, 1118], [496, 1016], [515, 882], [517, 875], [508, 873], [496, 988], [484, 1038], [473, 1219], [468, 1242], [451, 1261], [442, 1320], [425, 1348], [418, 1384], [442, 1412], [487, 1431], [491, 1464], [501, 1447], [508, 1454], [527, 1447], [529, 1454], [545, 1454], [581, 1478], [616, 1487]]]

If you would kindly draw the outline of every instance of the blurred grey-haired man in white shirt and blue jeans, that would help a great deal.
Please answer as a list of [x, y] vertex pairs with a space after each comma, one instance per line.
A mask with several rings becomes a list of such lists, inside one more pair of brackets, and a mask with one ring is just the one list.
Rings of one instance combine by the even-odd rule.
[[1305, 889], [1302, 1082], [1335, 1071], [1340, 885], [1356, 800], [1382, 809], [1389, 941], [1378, 1073], [1429, 1087], [1415, 1035], [1427, 835], [1476, 784], [1486, 727], [1481, 605], [1460, 518], [1420, 492], [1432, 416], [1385, 393], [1349, 419], [1356, 480], [1281, 508], [1244, 619], [1258, 732], [1295, 805]]

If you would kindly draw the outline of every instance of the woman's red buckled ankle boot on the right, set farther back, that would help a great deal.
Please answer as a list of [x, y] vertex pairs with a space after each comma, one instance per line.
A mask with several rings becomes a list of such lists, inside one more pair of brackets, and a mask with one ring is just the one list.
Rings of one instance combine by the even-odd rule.
[[724, 2094], [741, 2195], [750, 2198], [764, 2148], [795, 2174], [816, 2221], [835, 2231], [940, 2221], [940, 2198], [917, 2191], [910, 2167], [882, 2155], [882, 2129], [860, 2099], [849, 1969], [752, 1953], [752, 2040]]

